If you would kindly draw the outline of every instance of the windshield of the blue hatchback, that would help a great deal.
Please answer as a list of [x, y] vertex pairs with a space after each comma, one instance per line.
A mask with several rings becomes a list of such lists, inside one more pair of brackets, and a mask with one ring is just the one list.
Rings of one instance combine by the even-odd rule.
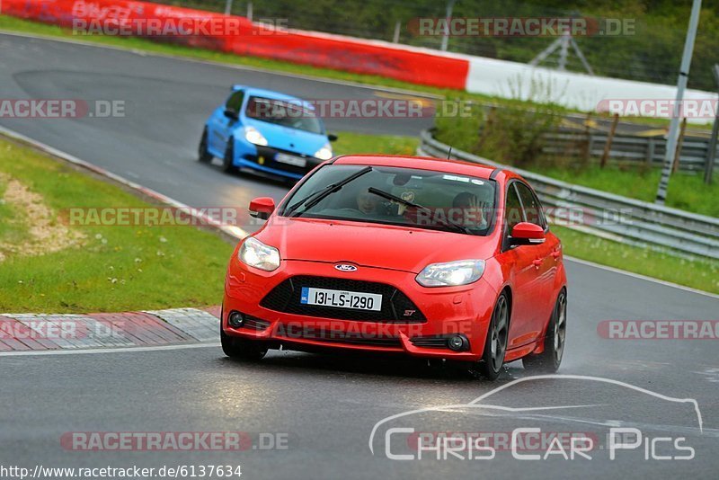
[[281, 125], [288, 129], [304, 130], [310, 133], [324, 134], [322, 120], [315, 111], [306, 108], [302, 102], [285, 102], [271, 98], [251, 96], [244, 109], [247, 118]]

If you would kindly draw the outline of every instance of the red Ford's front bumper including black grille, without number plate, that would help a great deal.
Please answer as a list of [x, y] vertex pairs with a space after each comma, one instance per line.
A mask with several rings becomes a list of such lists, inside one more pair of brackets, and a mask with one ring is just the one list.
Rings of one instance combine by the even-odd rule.
[[[360, 243], [365, 245], [358, 244], [358, 248], [367, 248], [367, 241]], [[286, 260], [277, 271], [268, 273], [248, 267], [236, 253], [226, 276], [222, 324], [227, 334], [457, 360], [478, 360], [482, 355], [497, 297], [486, 281], [429, 289], [415, 280], [418, 271], [348, 260]], [[356, 270], [338, 270], [341, 265]], [[379, 311], [328, 310], [300, 303], [303, 288], [370, 292], [381, 295], [383, 303]], [[235, 328], [229, 323], [233, 313], [244, 316], [243, 324]], [[457, 335], [464, 341], [457, 350], [451, 350], [448, 341]]]

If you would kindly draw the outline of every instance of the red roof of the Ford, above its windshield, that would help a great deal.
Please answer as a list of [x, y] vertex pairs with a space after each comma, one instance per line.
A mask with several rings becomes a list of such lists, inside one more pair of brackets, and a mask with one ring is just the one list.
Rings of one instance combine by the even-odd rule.
[[[444, 158], [432, 158], [428, 156], [350, 155], [337, 157], [333, 164], [417, 168], [420, 170], [435, 170], [439, 172], [469, 175], [483, 179], [489, 179], [490, 175], [497, 170], [497, 168], [490, 165], [472, 164], [462, 160], [447, 160]], [[508, 172], [502, 171], [502, 173]]]

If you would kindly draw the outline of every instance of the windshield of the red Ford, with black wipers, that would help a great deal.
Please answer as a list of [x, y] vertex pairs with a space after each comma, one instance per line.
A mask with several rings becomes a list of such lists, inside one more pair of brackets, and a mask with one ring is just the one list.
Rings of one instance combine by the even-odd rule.
[[[365, 165], [325, 165], [297, 189], [285, 207], [364, 168]], [[294, 215], [452, 231], [457, 231], [458, 225], [467, 234], [483, 236], [491, 224], [494, 192], [492, 180], [373, 166], [370, 172], [323, 200], [308, 203], [309, 207], [300, 206]]]

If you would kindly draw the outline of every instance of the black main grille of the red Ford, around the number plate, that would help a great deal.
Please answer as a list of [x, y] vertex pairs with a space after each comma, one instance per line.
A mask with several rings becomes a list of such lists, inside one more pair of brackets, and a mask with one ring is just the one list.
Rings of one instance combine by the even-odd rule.
[[[382, 310], [369, 311], [301, 304], [299, 303], [299, 298], [302, 287], [379, 294], [382, 296]], [[265, 298], [262, 298], [260, 306], [286, 314], [336, 318], [338, 320], [357, 322], [421, 324], [427, 321], [420, 309], [400, 290], [385, 283], [364, 280], [310, 276], [292, 277], [280, 283]]]

